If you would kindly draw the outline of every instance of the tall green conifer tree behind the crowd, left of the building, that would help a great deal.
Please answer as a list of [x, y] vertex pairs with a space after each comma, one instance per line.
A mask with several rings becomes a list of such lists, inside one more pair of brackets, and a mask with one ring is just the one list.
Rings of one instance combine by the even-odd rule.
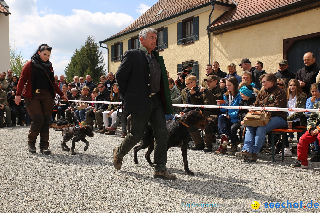
[[106, 64], [103, 62], [102, 51], [99, 51], [98, 42], [94, 41], [93, 36], [88, 36], [84, 45], [76, 49], [70, 62], [65, 67], [66, 79], [73, 81], [73, 77], [91, 75], [92, 81], [100, 82], [100, 76], [106, 75]]

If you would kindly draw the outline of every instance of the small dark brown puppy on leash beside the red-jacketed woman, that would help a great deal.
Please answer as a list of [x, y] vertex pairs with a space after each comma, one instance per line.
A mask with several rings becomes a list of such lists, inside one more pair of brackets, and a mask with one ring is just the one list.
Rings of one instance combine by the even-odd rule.
[[72, 140], [71, 154], [75, 155], [75, 143], [82, 141], [85, 143], [83, 150], [87, 150], [89, 147], [89, 141], [85, 139], [85, 136], [92, 137], [94, 134], [92, 128], [88, 125], [80, 127], [69, 127], [65, 129], [56, 129], [55, 131], [62, 131], [63, 140], [61, 141], [62, 151], [69, 151], [70, 148], [67, 146], [66, 142]]

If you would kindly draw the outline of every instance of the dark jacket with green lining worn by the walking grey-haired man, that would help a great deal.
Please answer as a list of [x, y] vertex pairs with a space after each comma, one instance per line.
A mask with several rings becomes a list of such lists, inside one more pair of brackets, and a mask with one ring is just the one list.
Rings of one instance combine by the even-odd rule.
[[[152, 50], [161, 69], [160, 95], [166, 115], [173, 113], [171, 94], [164, 60]], [[118, 89], [123, 98], [124, 110], [131, 113], [151, 113], [151, 77], [147, 49], [130, 49], [124, 53], [116, 72]]]

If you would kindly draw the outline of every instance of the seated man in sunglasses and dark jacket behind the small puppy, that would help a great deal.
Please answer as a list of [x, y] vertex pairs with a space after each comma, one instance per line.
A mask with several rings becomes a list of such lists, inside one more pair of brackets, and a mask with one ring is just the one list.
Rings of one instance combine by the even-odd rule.
[[[104, 87], [103, 83], [101, 83], [101, 82], [98, 83], [98, 89], [99, 89], [99, 95], [96, 97], [96, 101], [110, 102], [110, 93]], [[96, 123], [99, 127], [99, 129], [96, 131], [96, 133], [98, 133], [98, 131], [102, 130], [102, 128], [103, 128], [102, 112], [106, 111], [108, 109], [108, 106], [109, 106], [108, 103], [96, 103], [94, 105], [94, 109], [87, 110], [85, 113], [85, 123], [86, 123], [86, 125], [91, 126], [92, 129], [93, 129], [93, 118], [92, 117], [95, 117]]]

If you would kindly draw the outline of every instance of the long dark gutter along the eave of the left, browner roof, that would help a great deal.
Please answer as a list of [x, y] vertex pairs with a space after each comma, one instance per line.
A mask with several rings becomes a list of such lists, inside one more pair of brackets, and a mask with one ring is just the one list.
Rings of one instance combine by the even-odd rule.
[[[150, 23], [150, 24], [144, 25], [144, 26], [142, 26], [142, 27], [132, 29], [132, 30], [126, 32], [126, 33], [119, 34], [119, 35], [116, 35], [116, 36], [114, 36], [114, 37], [107, 38], [107, 39], [105, 39], [105, 40], [103, 40], [103, 41], [101, 41], [101, 42], [99, 42], [99, 43], [105, 43], [105, 42], [111, 41], [111, 40], [113, 40], [113, 39], [119, 38], [119, 37], [124, 36], [124, 35], [126, 35], [126, 34], [130, 34], [130, 33], [133, 33], [133, 32], [135, 32], [135, 31], [138, 31], [138, 30], [142, 30], [142, 29], [144, 29], [144, 28], [146, 28], [146, 27], [150, 27], [150, 26], [152, 26], [152, 25], [156, 25], [156, 24], [158, 24], [158, 23], [161, 23], [161, 22], [164, 22], [164, 21], [173, 19], [173, 18], [175, 18], [175, 17], [178, 17], [178, 16], [181, 16], [181, 15], [187, 14], [187, 13], [189, 13], [189, 12], [198, 10], [198, 9], [203, 8], [203, 7], [206, 7], [206, 6], [209, 6], [210, 4], [211, 4], [210, 2], [207, 2], [207, 3], [205, 3], [205, 4], [201, 4], [201, 5], [199, 5], [199, 6], [190, 8], [189, 10], [186, 10], [186, 11], [183, 11], [183, 12], [180, 12], [180, 13], [177, 13], [177, 14], [174, 14], [174, 15], [172, 15], [172, 16], [169, 16], [169, 17], [167, 17], [167, 18], [165, 18], [165, 19], [161, 19], [161, 20], [158, 20], [158, 21], [156, 21], [156, 22], [152, 22], [152, 23]], [[228, 6], [228, 7], [235, 7], [235, 6], [236, 6], [236, 5], [234, 5], [234, 4], [227, 4], [227, 3], [222, 3], [222, 2], [218, 2], [218, 4], [221, 5], [221, 6]], [[139, 17], [139, 18], [140, 18], [140, 17]], [[139, 19], [139, 18], [138, 18], [138, 19]], [[137, 19], [137, 20], [138, 20], [138, 19]], [[210, 24], [209, 24], [209, 25], [210, 25]]]

